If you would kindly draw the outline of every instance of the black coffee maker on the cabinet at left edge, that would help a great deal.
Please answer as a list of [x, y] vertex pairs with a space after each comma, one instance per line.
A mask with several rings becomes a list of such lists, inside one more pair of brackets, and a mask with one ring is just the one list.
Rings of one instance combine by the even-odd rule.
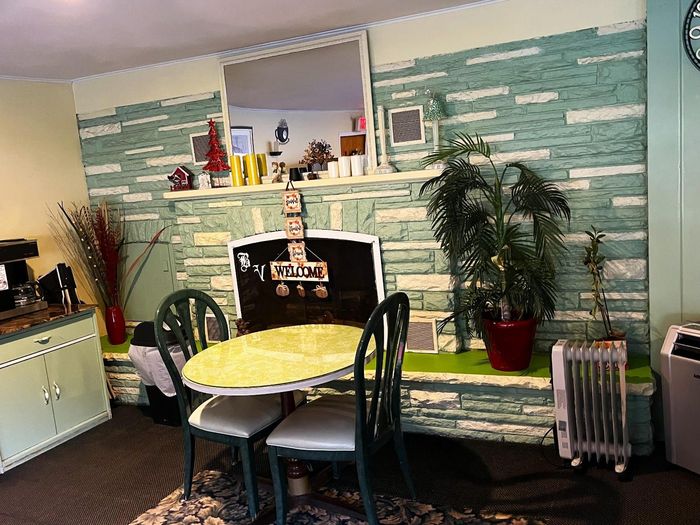
[[38, 256], [35, 240], [0, 240], [0, 320], [48, 308], [29, 280], [26, 260]]

